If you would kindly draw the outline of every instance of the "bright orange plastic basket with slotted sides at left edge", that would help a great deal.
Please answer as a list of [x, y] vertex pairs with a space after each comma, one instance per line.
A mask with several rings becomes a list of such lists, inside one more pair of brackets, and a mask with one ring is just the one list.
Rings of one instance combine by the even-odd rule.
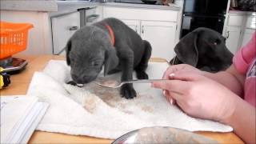
[[26, 50], [28, 30], [33, 27], [30, 23], [0, 22], [0, 59], [8, 58], [22, 50]]

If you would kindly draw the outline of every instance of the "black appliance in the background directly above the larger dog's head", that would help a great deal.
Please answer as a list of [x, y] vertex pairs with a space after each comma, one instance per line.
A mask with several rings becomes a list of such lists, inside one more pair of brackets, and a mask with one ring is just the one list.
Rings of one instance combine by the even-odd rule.
[[222, 34], [228, 0], [184, 0], [181, 38], [198, 27]]

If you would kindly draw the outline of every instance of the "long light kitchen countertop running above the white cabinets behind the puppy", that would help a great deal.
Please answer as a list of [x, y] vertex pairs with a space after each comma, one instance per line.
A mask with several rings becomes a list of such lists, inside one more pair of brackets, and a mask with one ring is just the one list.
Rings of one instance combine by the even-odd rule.
[[86, 2], [86, 1], [55, 1], [55, 0], [1, 0], [1, 10], [30, 10], [30, 11], [49, 11], [65, 12], [86, 7], [95, 6], [122, 6], [144, 9], [160, 10], [180, 10], [180, 6], [172, 4], [170, 6], [132, 4], [122, 2]]

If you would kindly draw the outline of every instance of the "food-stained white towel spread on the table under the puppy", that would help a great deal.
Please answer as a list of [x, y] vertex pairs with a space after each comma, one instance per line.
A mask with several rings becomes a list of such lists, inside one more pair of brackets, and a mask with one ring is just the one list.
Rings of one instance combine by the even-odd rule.
[[[150, 78], [162, 78], [166, 63], [150, 62]], [[120, 74], [108, 78], [119, 78]], [[136, 78], [136, 77], [134, 77]], [[42, 72], [35, 72], [28, 95], [49, 102], [50, 108], [37, 130], [97, 138], [118, 138], [145, 126], [171, 126], [183, 130], [229, 132], [232, 127], [219, 122], [191, 118], [177, 106], [171, 106], [157, 90], [147, 84], [134, 84], [138, 96], [121, 98], [119, 89], [107, 89], [94, 83], [79, 88], [67, 85], [70, 67], [64, 61], [51, 60]]]

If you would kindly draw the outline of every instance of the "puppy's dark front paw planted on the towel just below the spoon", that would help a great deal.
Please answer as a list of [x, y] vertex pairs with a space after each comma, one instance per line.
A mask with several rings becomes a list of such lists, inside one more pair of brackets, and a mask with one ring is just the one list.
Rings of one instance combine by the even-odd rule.
[[136, 97], [136, 91], [134, 90], [134, 87], [131, 84], [125, 84], [121, 87], [120, 94], [122, 97], [125, 97], [127, 99]]

